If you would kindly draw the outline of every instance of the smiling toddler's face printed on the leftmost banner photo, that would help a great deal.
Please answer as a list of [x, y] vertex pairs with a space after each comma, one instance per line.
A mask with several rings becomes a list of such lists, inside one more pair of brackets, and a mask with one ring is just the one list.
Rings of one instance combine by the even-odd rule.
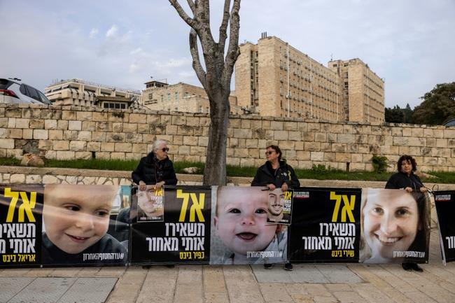
[[114, 185], [46, 185], [43, 230], [60, 250], [77, 254], [96, 244], [109, 228]]

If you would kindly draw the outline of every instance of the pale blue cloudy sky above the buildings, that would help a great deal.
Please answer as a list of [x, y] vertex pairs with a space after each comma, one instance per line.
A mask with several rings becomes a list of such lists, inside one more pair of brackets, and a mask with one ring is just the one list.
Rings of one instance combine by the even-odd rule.
[[[214, 32], [222, 6], [211, 1]], [[324, 66], [358, 57], [385, 79], [386, 107], [414, 107], [455, 80], [454, 16], [455, 0], [244, 0], [239, 42], [267, 31]], [[188, 25], [167, 0], [0, 0], [0, 29], [0, 77], [40, 90], [68, 78], [137, 90], [151, 76], [200, 85]]]

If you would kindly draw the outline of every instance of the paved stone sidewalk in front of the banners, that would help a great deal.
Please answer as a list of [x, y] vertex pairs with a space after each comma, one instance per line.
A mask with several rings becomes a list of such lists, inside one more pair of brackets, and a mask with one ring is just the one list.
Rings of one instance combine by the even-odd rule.
[[[422, 267], [421, 274], [362, 264], [295, 265], [293, 272], [280, 265], [1, 269], [0, 302], [454, 303], [455, 262], [442, 265], [435, 229]], [[8, 293], [11, 285], [17, 294]]]

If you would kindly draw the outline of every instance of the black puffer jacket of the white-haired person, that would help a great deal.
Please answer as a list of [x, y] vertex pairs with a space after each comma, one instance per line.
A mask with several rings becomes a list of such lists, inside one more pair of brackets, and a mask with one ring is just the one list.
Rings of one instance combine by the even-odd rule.
[[131, 174], [134, 183], [144, 181], [147, 185], [165, 181], [165, 185], [176, 185], [177, 177], [172, 161], [167, 157], [165, 160], [158, 161], [155, 154], [149, 153], [141, 159], [139, 165]]

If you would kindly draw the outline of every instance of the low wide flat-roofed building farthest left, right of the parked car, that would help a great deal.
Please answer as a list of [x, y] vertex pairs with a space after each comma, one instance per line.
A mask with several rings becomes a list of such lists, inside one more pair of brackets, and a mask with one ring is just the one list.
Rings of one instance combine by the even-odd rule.
[[91, 83], [82, 79], [61, 80], [45, 88], [44, 94], [55, 105], [129, 108], [141, 103], [139, 90]]

